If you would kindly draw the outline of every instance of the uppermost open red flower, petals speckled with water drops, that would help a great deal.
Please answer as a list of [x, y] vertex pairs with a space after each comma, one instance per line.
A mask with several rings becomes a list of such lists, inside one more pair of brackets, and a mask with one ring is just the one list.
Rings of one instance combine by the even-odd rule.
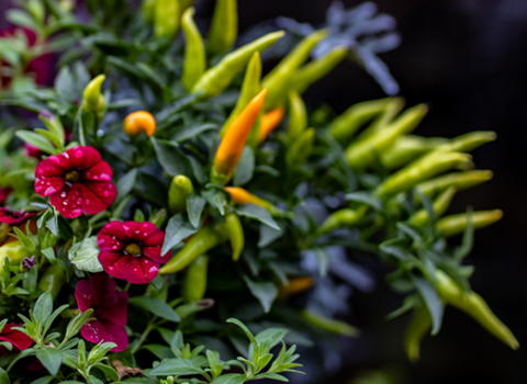
[[115, 200], [112, 169], [96, 148], [83, 146], [42, 160], [35, 170], [35, 191], [64, 217], [98, 214]]

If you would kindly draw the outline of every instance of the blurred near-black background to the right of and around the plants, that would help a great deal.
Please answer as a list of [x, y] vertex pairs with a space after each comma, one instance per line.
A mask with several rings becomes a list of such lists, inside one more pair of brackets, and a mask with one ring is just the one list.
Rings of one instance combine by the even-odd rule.
[[[9, 5], [0, 0], [0, 11]], [[200, 15], [212, 14], [213, 0], [198, 0]], [[330, 0], [238, 0], [239, 29], [284, 15], [313, 25], [325, 20]], [[361, 1], [344, 1], [346, 8]], [[380, 57], [401, 86], [407, 105], [426, 102], [431, 112], [416, 134], [453, 137], [471, 131], [495, 131], [498, 139], [474, 151], [479, 169], [491, 169], [491, 182], [457, 195], [450, 212], [502, 208], [504, 218], [476, 231], [467, 263], [471, 280], [527, 343], [527, 1], [526, 0], [377, 0], [380, 12], [397, 20], [402, 45]], [[5, 26], [0, 21], [0, 26]], [[384, 97], [362, 69], [343, 63], [305, 94], [307, 104], [350, 104]], [[363, 260], [358, 260], [363, 262]], [[373, 293], [356, 292], [349, 321], [361, 337], [344, 342], [341, 368], [317, 383], [351, 383], [365, 370], [397, 372], [402, 383], [527, 383], [526, 347], [509, 350], [455, 308], [447, 308], [440, 334], [427, 337], [422, 360], [407, 362], [402, 335], [407, 317], [386, 321], [401, 304], [379, 273]]]

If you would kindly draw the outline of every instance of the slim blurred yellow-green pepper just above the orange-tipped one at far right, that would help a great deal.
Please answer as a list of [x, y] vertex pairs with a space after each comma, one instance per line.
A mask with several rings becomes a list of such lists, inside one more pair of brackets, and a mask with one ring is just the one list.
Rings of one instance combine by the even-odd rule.
[[[430, 196], [436, 192], [442, 191], [449, 187], [455, 187], [458, 191], [481, 184], [492, 179], [492, 171], [464, 171], [440, 176], [436, 179], [425, 181], [416, 188], [421, 192]], [[418, 199], [416, 196], [416, 199]]]

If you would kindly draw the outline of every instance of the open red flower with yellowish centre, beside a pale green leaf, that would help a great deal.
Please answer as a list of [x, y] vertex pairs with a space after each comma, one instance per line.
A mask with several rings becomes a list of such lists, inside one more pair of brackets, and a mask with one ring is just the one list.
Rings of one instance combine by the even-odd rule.
[[148, 222], [110, 222], [97, 236], [99, 261], [104, 271], [134, 284], [146, 284], [159, 272], [159, 263], [170, 259], [161, 255], [165, 233]]

